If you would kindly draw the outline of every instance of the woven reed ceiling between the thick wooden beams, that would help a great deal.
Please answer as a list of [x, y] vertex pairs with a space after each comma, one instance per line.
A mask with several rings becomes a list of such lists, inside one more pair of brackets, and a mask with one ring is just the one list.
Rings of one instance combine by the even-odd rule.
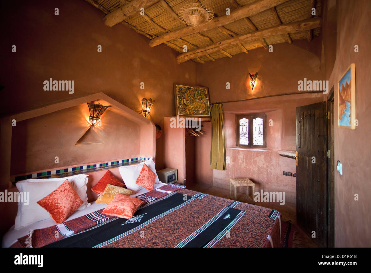
[[[102, 12], [104, 12], [105, 14], [114, 12], [116, 9], [131, 2], [127, 0], [86, 1], [88, 1], [90, 4], [97, 7], [98, 9], [102, 10]], [[257, 0], [200, 0], [198, 2], [212, 9], [215, 17], [219, 17], [226, 15], [227, 8], [229, 8], [230, 12], [232, 13], [233, 10], [257, 2]], [[193, 3], [193, 0], [160, 0], [145, 9], [145, 16], [141, 15], [138, 11], [129, 18], [126, 18], [125, 21], [121, 23], [127, 27], [134, 29], [138, 33], [141, 33], [149, 39], [154, 39], [166, 32], [173, 32], [174, 30], [179, 30], [186, 27], [184, 23], [182, 23], [175, 17], [174, 13], [179, 14], [180, 10], [185, 5], [191, 3]], [[166, 5], [167, 8], [165, 8]], [[316, 14], [313, 16], [310, 12], [312, 7], [314, 7], [316, 10]], [[169, 12], [169, 9], [173, 10], [174, 13], [171, 14], [171, 12]], [[256, 27], [255, 30], [264, 30], [269, 27], [278, 26], [279, 21], [273, 14], [274, 10], [276, 10], [278, 20], [282, 24], [301, 22], [309, 18], [321, 16], [321, 1], [289, 0], [277, 5], [273, 8], [273, 10], [267, 9], [263, 12], [249, 16], [247, 17], [247, 20], [250, 20], [253, 26]], [[191, 35], [169, 40], [165, 42], [165, 44], [178, 51], [179, 53], [184, 53], [184, 45], [187, 45], [188, 51], [192, 51], [197, 48], [203, 48], [210, 45], [212, 42], [217, 43], [236, 35], [243, 35], [255, 31], [254, 29], [252, 29], [253, 26], [246, 23], [247, 20], [239, 19], [232, 23], [228, 23], [227, 25], [223, 25], [223, 27], [217, 27], [206, 30], [204, 32], [193, 33]], [[288, 36], [286, 36], [286, 38], [285, 35], [281, 34], [273, 35], [264, 39], [243, 42], [242, 46], [232, 45], [224, 48], [222, 51], [213, 52], [205, 56], [200, 56], [199, 58], [193, 58], [193, 60], [203, 63], [227, 56], [231, 58], [233, 55], [239, 53], [246, 54], [248, 51], [262, 46], [267, 48], [267, 45], [290, 42], [290, 39], [292, 40], [292, 42], [300, 39], [308, 39], [310, 41], [313, 36], [318, 36], [320, 31], [321, 27], [316, 27], [312, 30], [288, 33]]]

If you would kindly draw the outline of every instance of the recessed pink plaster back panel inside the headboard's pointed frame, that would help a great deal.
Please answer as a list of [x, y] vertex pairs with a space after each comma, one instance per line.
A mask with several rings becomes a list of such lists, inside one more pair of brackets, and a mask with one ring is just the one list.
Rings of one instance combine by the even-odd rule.
[[140, 126], [110, 108], [101, 117], [102, 126], [92, 127], [104, 143], [76, 146], [90, 127], [88, 116], [85, 103], [18, 122], [12, 133], [10, 174], [151, 156], [140, 154]]

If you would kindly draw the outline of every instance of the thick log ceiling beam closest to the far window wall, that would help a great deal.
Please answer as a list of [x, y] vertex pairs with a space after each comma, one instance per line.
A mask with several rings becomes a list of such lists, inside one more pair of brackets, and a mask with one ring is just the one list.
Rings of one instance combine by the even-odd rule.
[[270, 36], [285, 34], [285, 33], [296, 33], [304, 30], [313, 29], [320, 27], [322, 25], [322, 19], [320, 17], [315, 17], [312, 19], [307, 19], [301, 22], [288, 23], [284, 25], [274, 26], [267, 29], [256, 30], [251, 33], [238, 35], [233, 38], [226, 39], [217, 43], [213, 43], [209, 46], [204, 46], [202, 48], [195, 49], [193, 51], [188, 51], [177, 56], [178, 64], [188, 61], [196, 57], [205, 56], [216, 51], [223, 50], [229, 46], [237, 45], [242, 42], [251, 42], [253, 40], [258, 40], [262, 38], [267, 38]]

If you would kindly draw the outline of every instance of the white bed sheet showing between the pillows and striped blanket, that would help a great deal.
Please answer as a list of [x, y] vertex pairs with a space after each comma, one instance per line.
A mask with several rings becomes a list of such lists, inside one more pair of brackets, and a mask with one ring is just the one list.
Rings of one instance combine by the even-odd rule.
[[[160, 188], [163, 185], [167, 185], [165, 183], [156, 183], [154, 185], [154, 188]], [[132, 194], [130, 196], [135, 197], [141, 194], [145, 194], [146, 192], [149, 192], [148, 189], [141, 189], [138, 191], [136, 194]], [[89, 207], [86, 207], [85, 209], [81, 209], [79, 211], [73, 212], [73, 214], [70, 215], [70, 217], [67, 218], [66, 221], [81, 217], [83, 215], [92, 213], [94, 211], [98, 211], [99, 209], [105, 208], [107, 205], [106, 204], [97, 204], [94, 202], [91, 202], [91, 205]], [[37, 230], [40, 228], [46, 228], [46, 227], [52, 227], [53, 225], [56, 225], [56, 222], [50, 219], [46, 219], [43, 221], [39, 221], [36, 223], [33, 223], [31, 225], [28, 225], [27, 227], [21, 228], [20, 230], [15, 230], [14, 225], [7, 231], [7, 233], [4, 234], [3, 236], [3, 241], [1, 242], [1, 247], [10, 247], [12, 244], [16, 243], [18, 238], [23, 237], [24, 235], [27, 235], [30, 230]]]

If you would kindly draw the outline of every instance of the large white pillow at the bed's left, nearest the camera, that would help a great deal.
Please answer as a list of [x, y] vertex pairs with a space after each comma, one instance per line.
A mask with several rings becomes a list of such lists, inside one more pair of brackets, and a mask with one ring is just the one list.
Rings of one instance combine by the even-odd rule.
[[81, 174], [63, 178], [26, 179], [17, 182], [16, 186], [20, 192], [29, 192], [30, 200], [28, 205], [24, 204], [24, 202], [18, 202], [18, 212], [14, 228], [19, 230], [32, 223], [49, 219], [49, 212], [37, 204], [37, 201], [55, 191], [66, 179], [68, 179], [72, 188], [83, 201], [83, 204], [77, 210], [88, 207], [90, 205], [90, 203], [88, 203], [88, 195], [86, 194], [88, 175]]

